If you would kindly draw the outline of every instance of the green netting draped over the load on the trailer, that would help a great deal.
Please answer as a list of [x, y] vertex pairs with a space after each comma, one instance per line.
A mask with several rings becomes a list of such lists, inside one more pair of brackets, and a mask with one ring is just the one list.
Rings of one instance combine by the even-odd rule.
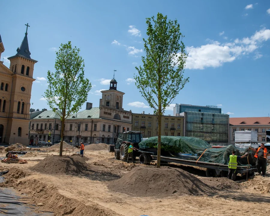
[[[157, 148], [158, 137], [150, 137], [139, 143], [140, 149]], [[206, 149], [206, 150], [205, 150]], [[190, 154], [193, 157], [190, 160], [197, 160], [201, 155], [199, 161], [211, 162], [217, 164], [228, 164], [229, 155], [235, 151], [235, 155], [243, 155], [248, 149], [240, 149], [233, 145], [221, 148], [212, 148], [204, 140], [195, 137], [170, 137], [161, 136], [161, 154], [166, 156], [169, 152], [171, 156], [182, 157], [183, 154]], [[253, 155], [252, 155], [253, 154]], [[254, 153], [249, 152], [249, 164], [254, 165]], [[239, 166], [246, 166], [248, 164], [247, 157], [238, 161]]]

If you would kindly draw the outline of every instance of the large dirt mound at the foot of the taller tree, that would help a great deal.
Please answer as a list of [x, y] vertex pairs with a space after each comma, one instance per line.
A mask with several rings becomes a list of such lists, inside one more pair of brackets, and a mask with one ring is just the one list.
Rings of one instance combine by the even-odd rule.
[[212, 189], [190, 173], [170, 167], [135, 167], [108, 184], [110, 190], [133, 196], [165, 197], [172, 194], [199, 194]]

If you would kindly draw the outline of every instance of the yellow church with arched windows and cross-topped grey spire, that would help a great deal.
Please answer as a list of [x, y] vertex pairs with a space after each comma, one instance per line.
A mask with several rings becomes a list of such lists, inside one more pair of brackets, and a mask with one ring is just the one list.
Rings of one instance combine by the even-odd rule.
[[[8, 58], [9, 68], [0, 61], [0, 143], [29, 143], [30, 98], [37, 61], [30, 57], [27, 28], [17, 53]], [[0, 59], [4, 50], [0, 36]]]

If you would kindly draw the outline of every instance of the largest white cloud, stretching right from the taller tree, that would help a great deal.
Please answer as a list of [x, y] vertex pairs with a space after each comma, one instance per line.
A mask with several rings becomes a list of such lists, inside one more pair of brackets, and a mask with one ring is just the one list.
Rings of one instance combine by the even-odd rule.
[[[223, 63], [232, 62], [241, 55], [248, 55], [262, 45], [260, 43], [270, 39], [270, 29], [261, 29], [250, 38], [238, 38], [234, 42], [220, 44], [218, 41], [210, 41], [199, 47], [190, 46], [186, 50], [189, 53], [186, 61], [187, 69], [204, 69], [206, 67], [220, 67]], [[259, 57], [259, 55], [257, 55]]]

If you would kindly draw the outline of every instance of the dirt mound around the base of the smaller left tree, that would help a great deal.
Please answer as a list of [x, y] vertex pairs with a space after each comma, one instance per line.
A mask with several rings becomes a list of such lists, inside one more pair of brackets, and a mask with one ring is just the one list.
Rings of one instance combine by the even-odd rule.
[[90, 166], [80, 156], [48, 156], [30, 168], [46, 174], [79, 174], [90, 170]]

